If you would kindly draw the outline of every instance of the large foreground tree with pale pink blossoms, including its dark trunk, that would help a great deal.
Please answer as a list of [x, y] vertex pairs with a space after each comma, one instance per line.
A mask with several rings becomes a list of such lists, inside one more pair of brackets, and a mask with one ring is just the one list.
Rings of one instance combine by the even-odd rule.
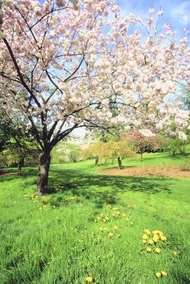
[[[188, 77], [187, 39], [169, 25], [160, 33], [153, 9], [143, 23], [121, 17], [114, 0], [2, 0], [0, 28], [0, 111], [41, 148], [39, 194], [53, 147], [74, 129], [168, 131], [179, 116], [180, 103], [166, 97]], [[176, 117], [176, 133], [188, 115]]]

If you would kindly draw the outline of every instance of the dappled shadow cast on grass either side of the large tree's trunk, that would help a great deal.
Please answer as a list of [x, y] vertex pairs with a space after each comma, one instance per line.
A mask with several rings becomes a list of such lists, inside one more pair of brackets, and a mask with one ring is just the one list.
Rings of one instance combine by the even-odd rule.
[[[22, 175], [9, 175], [4, 177], [7, 181], [23, 177], [23, 190], [36, 184], [37, 169], [27, 168]], [[0, 180], [2, 177], [0, 178]], [[25, 180], [24, 180], [25, 179]], [[171, 179], [160, 177], [129, 177], [116, 175], [95, 175], [80, 170], [65, 170], [51, 168], [49, 177], [50, 192], [59, 194], [72, 194], [83, 197], [95, 203], [96, 207], [103, 204], [117, 204], [122, 193], [144, 192], [154, 195], [159, 192], [171, 193], [169, 185]]]

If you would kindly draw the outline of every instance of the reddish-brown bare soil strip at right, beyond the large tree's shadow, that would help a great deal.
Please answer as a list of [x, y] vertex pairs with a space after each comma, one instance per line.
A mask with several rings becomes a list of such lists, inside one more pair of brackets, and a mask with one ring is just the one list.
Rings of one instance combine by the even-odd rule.
[[102, 170], [103, 175], [128, 175], [128, 176], [159, 176], [167, 178], [190, 178], [190, 171], [181, 170], [179, 165], [167, 166], [140, 166], [123, 168], [111, 168]]

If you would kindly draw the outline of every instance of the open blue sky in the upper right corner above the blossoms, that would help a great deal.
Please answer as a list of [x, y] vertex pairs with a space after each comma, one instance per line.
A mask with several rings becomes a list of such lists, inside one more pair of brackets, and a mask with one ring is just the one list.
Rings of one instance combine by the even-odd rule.
[[146, 19], [149, 8], [159, 11], [161, 6], [164, 11], [162, 23], [169, 23], [177, 32], [177, 35], [184, 34], [184, 28], [190, 29], [190, 0], [117, 0], [120, 4], [123, 15], [134, 13]]

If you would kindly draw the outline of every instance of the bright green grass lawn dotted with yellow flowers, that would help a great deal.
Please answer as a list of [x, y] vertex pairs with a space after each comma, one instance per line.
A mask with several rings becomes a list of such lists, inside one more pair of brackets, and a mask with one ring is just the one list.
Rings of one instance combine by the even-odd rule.
[[[124, 164], [180, 164], [186, 157], [146, 154], [142, 163]], [[93, 163], [52, 165], [57, 192], [45, 198], [35, 195], [36, 168], [0, 178], [0, 283], [85, 284], [87, 276], [99, 284], [190, 283], [190, 179], [105, 176], [97, 169], [112, 165]], [[109, 222], [95, 222], [101, 213]], [[145, 250], [144, 229], [167, 236], [161, 253]], [[163, 270], [167, 277], [157, 279]]]

